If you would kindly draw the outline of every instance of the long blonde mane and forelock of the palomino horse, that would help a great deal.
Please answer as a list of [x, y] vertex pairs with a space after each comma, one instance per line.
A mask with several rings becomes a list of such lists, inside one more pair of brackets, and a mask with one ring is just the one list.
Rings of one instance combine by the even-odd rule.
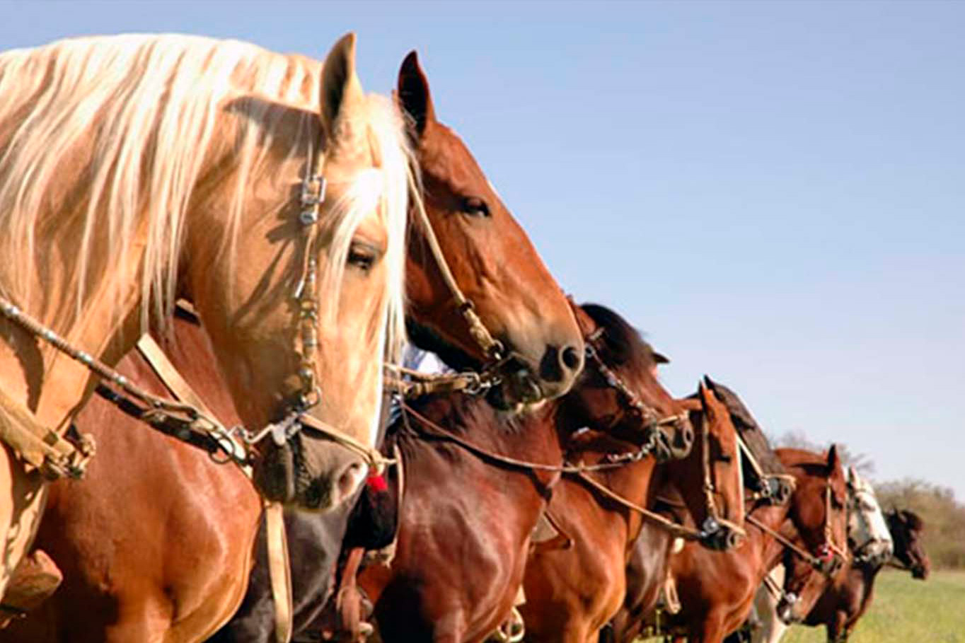
[[[290, 158], [299, 159], [317, 145], [320, 67], [245, 42], [172, 35], [74, 39], [0, 55], [0, 257], [7, 264], [0, 294], [63, 322], [82, 319], [93, 297], [130, 296], [136, 287], [142, 324], [149, 316], [163, 323], [174, 305], [193, 188], [214, 171], [206, 161], [232, 146], [230, 249], [248, 186], [272, 171], [269, 143], [289, 145]], [[361, 172], [351, 198], [322, 222], [333, 239], [328, 265], [336, 267], [321, 283], [329, 285], [325, 296], [337, 296], [351, 236], [380, 205], [389, 280], [379, 341], [395, 359], [404, 332], [406, 205], [419, 198], [411, 191], [418, 180], [397, 108], [387, 98], [366, 102], [360, 118], [381, 164]], [[278, 104], [293, 110], [271, 108]], [[235, 118], [226, 116], [229, 105]], [[280, 121], [292, 111], [299, 135], [281, 141]], [[279, 195], [280, 203], [288, 199]], [[56, 249], [49, 230], [65, 225], [82, 231], [79, 247], [48, 256]], [[106, 253], [94, 257], [102, 236]], [[39, 247], [41, 238], [50, 247]], [[131, 252], [140, 253], [133, 273], [122, 261]], [[63, 292], [38, 299], [44, 271], [61, 278]]]

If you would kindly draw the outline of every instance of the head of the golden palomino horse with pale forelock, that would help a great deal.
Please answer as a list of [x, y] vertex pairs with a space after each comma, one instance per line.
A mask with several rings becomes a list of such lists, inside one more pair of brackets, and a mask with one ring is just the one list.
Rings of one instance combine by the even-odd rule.
[[199, 186], [186, 223], [183, 295], [245, 426], [266, 427], [256, 484], [325, 510], [377, 462], [383, 363], [404, 335], [415, 182], [399, 110], [363, 93], [354, 35], [320, 69], [296, 59], [288, 71], [284, 101], [236, 100], [225, 115], [234, 123], [214, 162], [224, 169]]

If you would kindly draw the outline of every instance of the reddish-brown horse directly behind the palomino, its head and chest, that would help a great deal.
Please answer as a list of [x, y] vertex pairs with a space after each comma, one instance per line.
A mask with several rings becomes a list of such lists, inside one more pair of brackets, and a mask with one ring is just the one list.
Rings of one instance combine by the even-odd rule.
[[[400, 91], [402, 106], [424, 113], [430, 104], [428, 89], [414, 56], [406, 58], [400, 70], [400, 90], [403, 87], [408, 90]], [[458, 195], [489, 199], [492, 187], [455, 134], [434, 117], [431, 124], [418, 133], [417, 148], [420, 164], [432, 177], [434, 198], [427, 201], [428, 218], [447, 261], [459, 258], [451, 263], [455, 281], [473, 297], [483, 323], [515, 351], [543, 354], [550, 345], [574, 342], [582, 347], [567, 300], [501, 202], [491, 201], [494, 214], [484, 222], [460, 210]], [[443, 194], [451, 198], [440, 200]], [[460, 217], [465, 222], [455, 223]], [[464, 322], [453, 320], [445, 305], [427, 304], [433, 298], [448, 302], [451, 294], [438, 276], [439, 266], [422, 250], [424, 238], [424, 231], [413, 226], [406, 289], [413, 293], [413, 301], [422, 303], [411, 309], [409, 319], [421, 329], [423, 341], [442, 340], [441, 349], [452, 343], [471, 353], [473, 347], [458, 339], [458, 333], [465, 332]], [[473, 266], [489, 263], [511, 269], [514, 279], [501, 273], [479, 283]], [[540, 322], [527, 312], [534, 306]], [[236, 422], [201, 329], [176, 319], [174, 341], [165, 347], [181, 375], [221, 420]], [[568, 386], [572, 374], [562, 369], [555, 374], [547, 371], [545, 383], [540, 379], [544, 392], [558, 393]], [[124, 359], [123, 371], [134, 381], [166, 392], [136, 354]], [[38, 542], [67, 580], [42, 611], [0, 634], [0, 640], [53, 641], [68, 635], [75, 641], [119, 642], [207, 637], [234, 614], [247, 585], [261, 513], [250, 483], [233, 467], [214, 465], [207, 454], [145, 430], [102, 400], [89, 405], [78, 425], [98, 438], [97, 458], [82, 483], [52, 486]], [[331, 535], [335, 550], [317, 555], [331, 561], [344, 528], [342, 522], [338, 533]]]

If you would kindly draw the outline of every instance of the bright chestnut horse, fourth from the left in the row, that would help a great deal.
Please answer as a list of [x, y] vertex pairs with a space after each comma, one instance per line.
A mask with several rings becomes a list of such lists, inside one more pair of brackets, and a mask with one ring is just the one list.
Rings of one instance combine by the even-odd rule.
[[[526, 603], [520, 607], [527, 640], [595, 640], [598, 630], [620, 609], [626, 589], [627, 549], [644, 522], [653, 519], [630, 505], [650, 505], [652, 489], [661, 486], [654, 478], [673, 480], [695, 522], [704, 526], [687, 536], [715, 549], [737, 544], [744, 518], [737, 436], [727, 408], [703, 382], [699, 395], [700, 402], [690, 415], [695, 443], [686, 458], [659, 465], [648, 458], [603, 476], [593, 475], [627, 504], [601, 493], [579, 476], [565, 474], [553, 489], [547, 511], [570, 545], [537, 546], [530, 552], [524, 581]], [[581, 448], [580, 453], [581, 461], [587, 463], [607, 461], [609, 455], [593, 447]]]

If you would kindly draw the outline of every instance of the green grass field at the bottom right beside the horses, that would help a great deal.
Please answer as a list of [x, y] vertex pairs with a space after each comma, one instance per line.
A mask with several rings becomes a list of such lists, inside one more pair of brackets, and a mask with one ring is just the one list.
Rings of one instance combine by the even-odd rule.
[[[794, 627], [782, 643], [825, 643], [824, 632]], [[924, 582], [881, 573], [848, 643], [965, 643], [965, 572], [935, 572]]]

